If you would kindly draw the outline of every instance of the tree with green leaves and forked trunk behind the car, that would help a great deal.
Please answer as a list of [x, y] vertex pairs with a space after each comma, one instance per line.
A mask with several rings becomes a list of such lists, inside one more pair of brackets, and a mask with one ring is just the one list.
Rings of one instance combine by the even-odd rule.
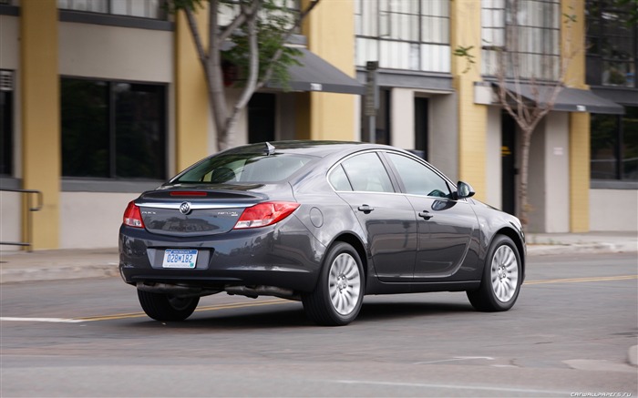
[[[195, 19], [205, 1], [209, 4], [208, 48], [203, 46], [201, 26]], [[312, 0], [304, 10], [295, 12], [286, 6], [286, 0], [173, 0], [173, 10], [186, 14], [204, 69], [218, 149], [229, 147], [237, 118], [255, 91], [273, 80], [286, 87], [288, 67], [298, 64], [296, 56], [301, 52], [285, 44], [320, 1]], [[228, 25], [221, 26], [222, 13], [234, 14]], [[224, 81], [224, 69], [236, 70], [242, 77], [232, 82], [242, 87], [242, 92], [231, 109], [225, 86], [231, 82]]]

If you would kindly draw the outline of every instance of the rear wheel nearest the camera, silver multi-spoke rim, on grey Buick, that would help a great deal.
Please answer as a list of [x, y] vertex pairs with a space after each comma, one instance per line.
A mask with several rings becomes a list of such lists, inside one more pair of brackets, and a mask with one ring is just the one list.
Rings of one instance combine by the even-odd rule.
[[302, 294], [308, 318], [325, 326], [355, 321], [364, 300], [364, 270], [356, 250], [337, 242], [328, 250], [314, 291]]

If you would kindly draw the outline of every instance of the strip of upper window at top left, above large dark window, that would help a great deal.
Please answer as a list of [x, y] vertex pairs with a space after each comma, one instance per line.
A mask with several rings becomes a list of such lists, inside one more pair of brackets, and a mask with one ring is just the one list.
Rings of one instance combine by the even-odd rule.
[[57, 0], [57, 7], [88, 13], [167, 18], [165, 0]]

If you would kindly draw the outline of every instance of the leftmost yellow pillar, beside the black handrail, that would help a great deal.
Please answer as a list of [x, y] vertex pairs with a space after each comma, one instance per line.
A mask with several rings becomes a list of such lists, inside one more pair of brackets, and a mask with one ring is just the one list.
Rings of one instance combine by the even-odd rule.
[[61, 175], [57, 1], [23, 0], [20, 16], [23, 188], [44, 194], [44, 207], [33, 213], [33, 249], [57, 249]]

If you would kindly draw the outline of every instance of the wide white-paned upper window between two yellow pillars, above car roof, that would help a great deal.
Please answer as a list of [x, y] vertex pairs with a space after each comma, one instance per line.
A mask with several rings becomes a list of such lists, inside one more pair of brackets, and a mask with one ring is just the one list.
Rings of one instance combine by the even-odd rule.
[[355, 0], [356, 65], [450, 72], [449, 0]]

